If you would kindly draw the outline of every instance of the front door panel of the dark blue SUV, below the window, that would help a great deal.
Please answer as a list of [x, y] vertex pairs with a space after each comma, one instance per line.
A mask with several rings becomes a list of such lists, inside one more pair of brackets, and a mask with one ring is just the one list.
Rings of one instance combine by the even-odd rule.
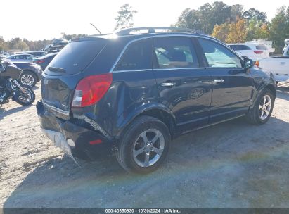
[[210, 123], [245, 114], [250, 106], [254, 80], [244, 68], [207, 68], [214, 80]]

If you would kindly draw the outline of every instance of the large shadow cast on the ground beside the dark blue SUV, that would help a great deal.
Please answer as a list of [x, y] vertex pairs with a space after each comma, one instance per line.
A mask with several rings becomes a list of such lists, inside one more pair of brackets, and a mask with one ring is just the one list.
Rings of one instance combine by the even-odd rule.
[[[129, 175], [115, 158], [55, 158], [34, 169], [4, 208], [270, 208], [289, 204], [288, 122], [243, 119], [176, 139], [150, 175]], [[4, 212], [5, 213], [5, 212]]]

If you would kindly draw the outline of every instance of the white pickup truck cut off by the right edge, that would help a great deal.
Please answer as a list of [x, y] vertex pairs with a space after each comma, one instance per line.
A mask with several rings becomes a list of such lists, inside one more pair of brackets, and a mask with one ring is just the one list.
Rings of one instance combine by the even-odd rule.
[[255, 65], [274, 74], [276, 82], [289, 82], [289, 45], [283, 56], [259, 58]]

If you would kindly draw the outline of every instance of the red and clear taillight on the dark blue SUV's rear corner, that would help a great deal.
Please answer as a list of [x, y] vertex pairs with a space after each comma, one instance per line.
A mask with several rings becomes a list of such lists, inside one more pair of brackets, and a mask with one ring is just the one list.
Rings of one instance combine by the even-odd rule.
[[94, 75], [80, 80], [73, 95], [72, 107], [91, 106], [101, 100], [108, 91], [113, 74]]

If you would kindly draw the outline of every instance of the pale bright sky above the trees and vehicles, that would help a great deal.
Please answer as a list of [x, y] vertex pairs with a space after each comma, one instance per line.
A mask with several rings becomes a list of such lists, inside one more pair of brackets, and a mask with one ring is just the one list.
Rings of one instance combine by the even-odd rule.
[[[267, 13], [269, 20], [277, 8], [288, 0], [223, 0], [226, 4], [241, 4], [244, 9], [256, 8]], [[185, 8], [197, 9], [214, 0], [1, 0], [0, 36], [5, 40], [20, 37], [29, 40], [53, 39], [66, 34], [96, 34], [112, 32], [120, 6], [129, 3], [138, 11], [135, 27], [169, 26], [176, 23]]]

